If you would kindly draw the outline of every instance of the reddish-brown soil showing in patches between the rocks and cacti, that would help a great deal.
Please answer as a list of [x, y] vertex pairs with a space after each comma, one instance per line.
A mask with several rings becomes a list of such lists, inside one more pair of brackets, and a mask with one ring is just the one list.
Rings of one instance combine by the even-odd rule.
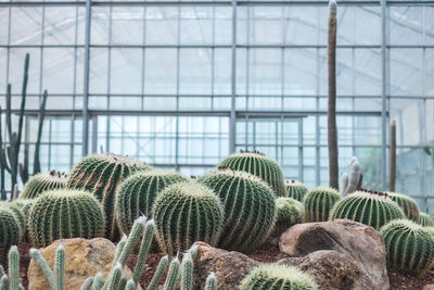
[[[28, 280], [27, 280], [27, 268], [30, 263], [30, 256], [28, 251], [30, 250], [30, 245], [27, 243], [23, 243], [18, 247], [20, 251], [20, 270], [21, 270], [21, 279], [22, 283], [27, 289]], [[142, 278], [140, 279], [140, 285], [143, 289], [146, 289], [148, 283], [151, 281], [152, 276], [158, 265], [159, 260], [162, 259], [162, 253], [149, 253], [146, 259], [146, 264], [144, 265], [144, 273]], [[272, 263], [282, 257], [284, 254], [280, 253], [278, 241], [276, 238], [270, 238], [267, 242], [260, 247], [255, 252], [248, 254], [250, 257], [263, 262], [263, 263]], [[137, 256], [131, 255], [127, 262], [129, 268], [133, 268], [136, 265]], [[166, 269], [167, 272], [167, 269]], [[164, 275], [165, 276], [165, 275]], [[388, 272], [388, 279], [391, 282], [391, 289], [393, 290], [422, 290], [425, 285], [434, 285], [434, 270], [426, 273], [423, 278], [417, 278], [405, 274], [399, 274], [393, 270]], [[161, 283], [165, 280], [165, 277], [162, 278]]]

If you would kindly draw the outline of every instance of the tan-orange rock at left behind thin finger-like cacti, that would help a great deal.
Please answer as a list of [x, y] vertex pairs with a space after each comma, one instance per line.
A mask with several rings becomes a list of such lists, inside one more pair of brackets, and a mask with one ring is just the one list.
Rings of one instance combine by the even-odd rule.
[[[80, 289], [82, 282], [98, 273], [107, 278], [115, 255], [115, 245], [104, 239], [64, 239], [56, 240], [40, 250], [50, 267], [53, 269], [55, 250], [62, 243], [65, 248], [65, 289]], [[123, 277], [131, 277], [131, 270], [126, 267]], [[27, 272], [28, 289], [51, 289], [42, 270], [30, 261]]]

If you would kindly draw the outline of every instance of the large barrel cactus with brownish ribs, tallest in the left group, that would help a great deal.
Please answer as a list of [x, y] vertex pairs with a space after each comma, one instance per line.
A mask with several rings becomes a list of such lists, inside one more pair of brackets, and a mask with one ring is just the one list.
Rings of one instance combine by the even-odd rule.
[[115, 194], [122, 180], [150, 166], [135, 159], [111, 153], [93, 154], [82, 159], [69, 173], [67, 188], [92, 192], [105, 214], [105, 237], [117, 241], [120, 232], [115, 217]]

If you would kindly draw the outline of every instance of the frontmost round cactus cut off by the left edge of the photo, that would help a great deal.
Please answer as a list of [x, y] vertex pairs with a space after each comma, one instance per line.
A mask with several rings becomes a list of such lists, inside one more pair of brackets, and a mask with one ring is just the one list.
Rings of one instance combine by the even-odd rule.
[[0, 265], [8, 264], [11, 245], [20, 242], [20, 224], [15, 214], [7, 206], [0, 206]]

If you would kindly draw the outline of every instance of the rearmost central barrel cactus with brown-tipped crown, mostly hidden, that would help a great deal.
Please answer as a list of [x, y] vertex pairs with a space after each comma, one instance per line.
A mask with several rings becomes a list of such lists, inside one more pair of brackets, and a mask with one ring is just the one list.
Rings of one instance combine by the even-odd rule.
[[240, 153], [226, 157], [219, 166], [256, 175], [271, 187], [277, 197], [286, 197], [282, 169], [273, 160], [263, 153], [240, 151]]

